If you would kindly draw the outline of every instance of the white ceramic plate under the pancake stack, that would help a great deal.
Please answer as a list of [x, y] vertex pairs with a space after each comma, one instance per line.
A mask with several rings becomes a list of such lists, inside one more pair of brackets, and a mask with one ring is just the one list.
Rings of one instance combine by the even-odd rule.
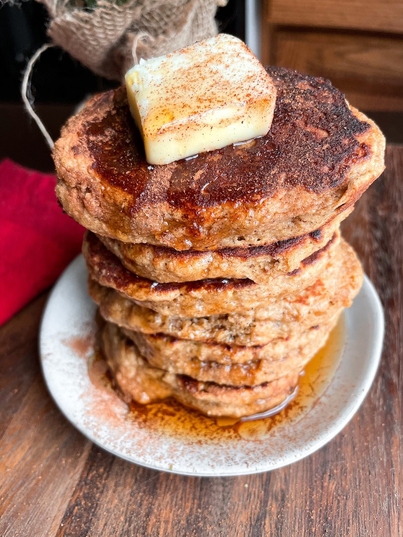
[[[344, 313], [345, 342], [331, 382], [311, 408], [272, 427], [263, 439], [234, 433], [189, 435], [132, 419], [112, 389], [89, 374], [95, 304], [77, 257], [56, 283], [40, 331], [42, 371], [56, 404], [98, 446], [138, 465], [178, 474], [231, 476], [272, 470], [303, 459], [336, 436], [364, 400], [379, 364], [384, 316], [368, 278]], [[91, 377], [91, 379], [90, 379]], [[231, 437], [231, 438], [230, 438]]]

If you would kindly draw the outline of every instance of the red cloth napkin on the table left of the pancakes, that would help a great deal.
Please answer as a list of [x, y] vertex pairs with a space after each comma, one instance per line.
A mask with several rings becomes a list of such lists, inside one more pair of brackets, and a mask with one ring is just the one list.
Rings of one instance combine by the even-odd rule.
[[50, 287], [84, 228], [57, 204], [56, 177], [0, 162], [0, 324]]

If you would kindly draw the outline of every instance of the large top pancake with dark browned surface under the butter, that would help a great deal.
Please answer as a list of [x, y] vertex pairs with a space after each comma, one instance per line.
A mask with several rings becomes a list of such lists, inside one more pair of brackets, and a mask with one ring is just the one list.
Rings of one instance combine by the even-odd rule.
[[123, 88], [95, 96], [54, 147], [63, 208], [100, 235], [206, 250], [310, 233], [382, 172], [384, 137], [329, 81], [268, 68], [277, 101], [266, 136], [155, 166]]

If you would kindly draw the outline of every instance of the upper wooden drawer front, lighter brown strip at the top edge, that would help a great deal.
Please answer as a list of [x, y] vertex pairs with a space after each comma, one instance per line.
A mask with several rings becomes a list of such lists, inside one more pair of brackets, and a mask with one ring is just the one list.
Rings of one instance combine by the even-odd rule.
[[403, 33], [402, 0], [268, 0], [268, 21]]

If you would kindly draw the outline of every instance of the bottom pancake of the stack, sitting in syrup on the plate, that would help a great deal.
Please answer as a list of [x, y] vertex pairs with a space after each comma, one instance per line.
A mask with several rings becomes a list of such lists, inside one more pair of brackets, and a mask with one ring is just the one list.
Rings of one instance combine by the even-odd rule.
[[102, 350], [114, 381], [127, 402], [147, 404], [175, 397], [207, 416], [242, 417], [282, 403], [295, 390], [299, 374], [292, 373], [257, 386], [226, 386], [198, 382], [150, 366], [134, 343], [111, 323], [102, 330]]

